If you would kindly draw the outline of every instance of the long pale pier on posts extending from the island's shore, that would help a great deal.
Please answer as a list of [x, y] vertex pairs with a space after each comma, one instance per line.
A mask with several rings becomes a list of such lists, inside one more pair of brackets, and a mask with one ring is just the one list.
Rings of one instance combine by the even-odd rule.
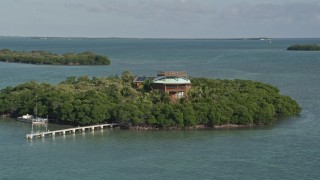
[[33, 139], [33, 137], [40, 137], [44, 138], [46, 136], [55, 137], [56, 135], [65, 135], [65, 134], [74, 134], [77, 131], [78, 132], [85, 132], [86, 130], [94, 131], [95, 129], [101, 129], [103, 128], [112, 128], [114, 126], [118, 126], [118, 124], [112, 123], [112, 124], [99, 124], [99, 125], [92, 125], [92, 126], [82, 126], [82, 127], [75, 127], [75, 128], [68, 128], [68, 129], [61, 129], [61, 130], [55, 130], [55, 131], [45, 131], [45, 132], [38, 132], [38, 133], [32, 133], [27, 134], [27, 139]]

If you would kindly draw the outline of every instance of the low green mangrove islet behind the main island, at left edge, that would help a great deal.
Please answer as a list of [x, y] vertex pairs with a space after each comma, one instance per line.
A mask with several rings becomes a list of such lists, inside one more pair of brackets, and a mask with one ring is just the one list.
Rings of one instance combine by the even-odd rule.
[[50, 65], [109, 65], [110, 60], [106, 56], [96, 55], [93, 52], [79, 54], [65, 53], [63, 55], [53, 54], [45, 51], [11, 51], [0, 50], [0, 61], [28, 63], [28, 64], [50, 64]]

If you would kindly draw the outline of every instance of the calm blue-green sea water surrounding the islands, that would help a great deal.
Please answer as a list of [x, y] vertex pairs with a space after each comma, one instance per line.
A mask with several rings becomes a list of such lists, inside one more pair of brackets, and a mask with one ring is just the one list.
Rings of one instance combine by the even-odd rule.
[[[0, 119], [0, 179], [320, 179], [320, 52], [289, 52], [320, 39], [183, 40], [0, 37], [0, 49], [94, 51], [111, 66], [0, 63], [0, 88], [68, 76], [187, 71], [250, 79], [297, 100], [299, 116], [262, 128], [195, 131], [104, 130], [55, 138], [25, 135], [31, 125]], [[67, 126], [50, 124], [49, 130]]]

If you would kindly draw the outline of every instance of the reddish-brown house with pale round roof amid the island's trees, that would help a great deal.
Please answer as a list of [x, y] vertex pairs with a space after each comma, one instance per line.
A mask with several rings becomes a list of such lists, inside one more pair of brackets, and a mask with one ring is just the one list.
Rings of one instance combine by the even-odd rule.
[[133, 82], [136, 87], [139, 88], [145, 80], [151, 78], [152, 89], [160, 90], [169, 94], [173, 102], [181, 98], [186, 98], [187, 92], [191, 88], [191, 81], [188, 79], [188, 75], [184, 71], [159, 71], [157, 73], [157, 77], [136, 77]]

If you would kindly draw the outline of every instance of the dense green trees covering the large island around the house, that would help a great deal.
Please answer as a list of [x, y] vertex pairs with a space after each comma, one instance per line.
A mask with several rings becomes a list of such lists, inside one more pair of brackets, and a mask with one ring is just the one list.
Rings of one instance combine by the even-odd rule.
[[0, 93], [0, 114], [49, 115], [61, 123], [90, 125], [118, 122], [128, 126], [187, 128], [196, 125], [265, 125], [296, 115], [299, 105], [271, 85], [248, 80], [193, 78], [188, 99], [172, 103], [167, 94], [132, 86], [130, 72], [121, 77], [69, 77], [57, 84], [27, 82]]

